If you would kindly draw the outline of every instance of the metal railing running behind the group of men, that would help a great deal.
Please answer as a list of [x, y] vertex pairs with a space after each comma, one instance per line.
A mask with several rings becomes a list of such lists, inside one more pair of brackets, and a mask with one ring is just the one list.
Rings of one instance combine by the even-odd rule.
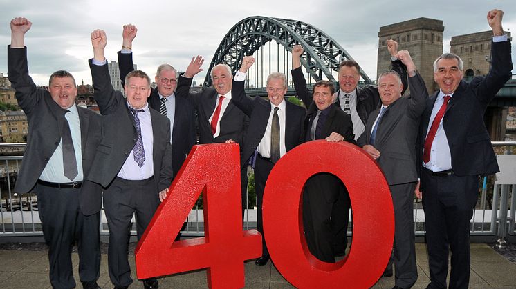
[[[500, 150], [505, 147], [505, 155], [514, 155], [516, 152], [516, 141], [493, 141], [493, 147]], [[24, 144], [0, 144], [0, 151], [10, 151], [10, 148], [23, 148]], [[0, 237], [7, 236], [42, 236], [42, 226], [38, 215], [37, 196], [33, 192], [18, 194], [14, 192], [14, 184], [17, 179], [17, 172], [21, 167], [21, 156], [0, 157]], [[513, 172], [516, 172], [514, 163]], [[249, 173], [252, 171], [250, 170]], [[483, 177], [483, 186], [479, 195], [477, 208], [474, 209], [471, 220], [471, 235], [496, 236], [498, 243], [503, 246], [507, 235], [516, 235], [516, 183], [498, 184], [495, 177]], [[249, 198], [248, 198], [249, 199]], [[256, 210], [255, 204], [248, 201], [244, 212], [244, 228], [255, 228]], [[503, 209], [501, 209], [503, 208]], [[350, 215], [350, 223], [351, 223]], [[416, 236], [425, 235], [425, 215], [421, 200], [414, 198], [414, 228]], [[101, 235], [109, 235], [107, 221], [102, 209]], [[204, 235], [203, 210], [196, 206], [188, 216], [185, 230], [181, 231], [183, 236]], [[131, 231], [136, 235], [136, 230]], [[351, 226], [349, 230], [351, 235]], [[0, 239], [1, 242], [1, 239]]]

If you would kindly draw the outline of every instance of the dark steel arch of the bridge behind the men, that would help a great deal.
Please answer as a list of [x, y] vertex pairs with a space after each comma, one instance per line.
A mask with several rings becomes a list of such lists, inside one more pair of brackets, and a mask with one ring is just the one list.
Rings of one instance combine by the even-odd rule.
[[[296, 43], [302, 45], [305, 53], [301, 57], [301, 65], [316, 81], [322, 79], [324, 74], [329, 81], [338, 82], [331, 72], [338, 71], [340, 62], [354, 60], [337, 41], [311, 24], [291, 19], [252, 16], [241, 20], [225, 34], [210, 62], [204, 85], [212, 85], [211, 71], [217, 64], [228, 64], [234, 74], [238, 70], [236, 64], [241, 63], [244, 56], [254, 54], [272, 40], [289, 52], [292, 52], [292, 46]], [[360, 75], [366, 83], [371, 81], [362, 69]]]

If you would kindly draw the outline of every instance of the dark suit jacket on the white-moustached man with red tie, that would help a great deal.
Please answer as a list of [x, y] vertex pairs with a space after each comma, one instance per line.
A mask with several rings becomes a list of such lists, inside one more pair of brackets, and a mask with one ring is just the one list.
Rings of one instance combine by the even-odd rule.
[[[213, 137], [212, 128], [210, 127], [210, 117], [212, 116], [217, 99], [215, 88], [203, 88], [201, 93], [190, 93], [192, 79], [187, 77], [179, 77], [176, 97], [188, 99], [197, 110], [197, 119], [199, 121], [199, 143], [223, 143], [228, 139], [232, 139], [240, 144], [243, 143], [243, 135], [249, 125], [249, 118], [239, 108], [234, 106], [230, 101], [228, 107], [220, 119], [220, 133], [218, 137]], [[242, 146], [240, 147], [240, 150]]]

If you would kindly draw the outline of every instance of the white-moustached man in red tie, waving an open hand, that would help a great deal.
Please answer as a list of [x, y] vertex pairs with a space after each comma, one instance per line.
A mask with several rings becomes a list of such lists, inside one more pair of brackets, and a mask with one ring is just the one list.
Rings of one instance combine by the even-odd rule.
[[[249, 125], [249, 118], [232, 103], [231, 87], [233, 75], [226, 64], [212, 68], [213, 87], [203, 88], [201, 93], [190, 93], [193, 77], [203, 71], [204, 59], [193, 57], [185, 74], [179, 77], [176, 96], [189, 99], [197, 110], [199, 143], [225, 143], [232, 140], [240, 144]], [[247, 206], [247, 166], [241, 170], [242, 209]]]

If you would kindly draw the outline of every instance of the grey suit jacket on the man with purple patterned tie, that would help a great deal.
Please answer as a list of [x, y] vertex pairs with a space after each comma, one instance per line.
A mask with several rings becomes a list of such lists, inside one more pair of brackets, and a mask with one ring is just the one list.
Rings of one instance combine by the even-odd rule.
[[[102, 141], [91, 165], [88, 179], [100, 183], [104, 188], [115, 179], [136, 144], [136, 123], [127, 107], [122, 92], [113, 90], [107, 64], [97, 66], [89, 60], [93, 97], [104, 116]], [[152, 160], [154, 161], [154, 183], [156, 194], [172, 182], [172, 149], [170, 146], [170, 121], [156, 110], [149, 108], [152, 123]]]

